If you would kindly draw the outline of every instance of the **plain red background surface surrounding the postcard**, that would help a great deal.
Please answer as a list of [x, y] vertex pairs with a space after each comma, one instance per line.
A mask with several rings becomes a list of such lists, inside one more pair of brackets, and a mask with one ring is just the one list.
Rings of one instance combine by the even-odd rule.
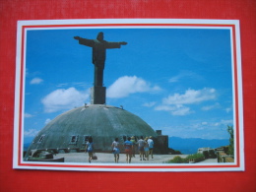
[[[1, 191], [84, 191], [89, 188], [92, 192], [256, 191], [255, 0], [0, 0], [0, 10]], [[239, 20], [241, 44], [237, 41], [237, 45], [241, 46], [243, 90], [243, 114], [239, 115], [243, 115], [244, 122], [244, 146], [241, 146], [240, 150], [245, 155], [245, 171], [86, 172], [13, 169], [13, 156], [18, 155], [14, 155], [12, 151], [17, 22], [69, 19]], [[17, 118], [16, 125], [18, 120]], [[243, 135], [241, 137], [243, 138]]]

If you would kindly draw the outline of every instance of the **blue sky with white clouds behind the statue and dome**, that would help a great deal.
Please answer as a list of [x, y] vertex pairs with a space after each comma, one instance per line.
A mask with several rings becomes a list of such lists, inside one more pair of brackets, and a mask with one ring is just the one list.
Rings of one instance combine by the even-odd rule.
[[106, 104], [181, 138], [228, 139], [233, 124], [230, 32], [220, 29], [71, 29], [27, 33], [25, 141], [57, 115], [90, 103], [92, 48], [75, 35], [127, 41], [108, 49]]

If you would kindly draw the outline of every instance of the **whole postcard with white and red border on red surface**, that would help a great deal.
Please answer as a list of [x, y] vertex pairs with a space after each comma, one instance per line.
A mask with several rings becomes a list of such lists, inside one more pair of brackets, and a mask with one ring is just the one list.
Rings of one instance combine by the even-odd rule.
[[13, 167], [243, 171], [237, 20], [19, 21]]

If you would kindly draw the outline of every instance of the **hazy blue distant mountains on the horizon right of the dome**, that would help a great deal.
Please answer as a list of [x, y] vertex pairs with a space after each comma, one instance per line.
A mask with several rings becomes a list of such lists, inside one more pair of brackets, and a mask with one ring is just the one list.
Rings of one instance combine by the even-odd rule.
[[169, 148], [180, 151], [182, 154], [195, 154], [199, 148], [219, 148], [229, 145], [229, 140], [205, 140], [200, 138], [169, 137]]

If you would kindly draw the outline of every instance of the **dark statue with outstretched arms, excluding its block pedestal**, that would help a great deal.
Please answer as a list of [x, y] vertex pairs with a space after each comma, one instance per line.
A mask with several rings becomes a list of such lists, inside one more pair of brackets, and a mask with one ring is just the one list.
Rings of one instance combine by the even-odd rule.
[[120, 48], [121, 45], [127, 42], [110, 42], [103, 39], [103, 32], [98, 32], [96, 39], [82, 38], [74, 36], [79, 40], [80, 44], [90, 46], [93, 48], [93, 64], [95, 65], [95, 87], [103, 86], [103, 70], [105, 64], [105, 49], [107, 48]]

